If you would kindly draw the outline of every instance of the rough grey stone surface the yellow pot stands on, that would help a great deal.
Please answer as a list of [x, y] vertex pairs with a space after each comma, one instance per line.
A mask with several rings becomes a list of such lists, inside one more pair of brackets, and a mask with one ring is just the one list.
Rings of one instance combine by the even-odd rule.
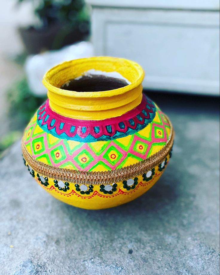
[[29, 175], [20, 142], [5, 152], [1, 275], [219, 274], [219, 100], [151, 97], [173, 122], [173, 156], [158, 183], [123, 206], [66, 205]]

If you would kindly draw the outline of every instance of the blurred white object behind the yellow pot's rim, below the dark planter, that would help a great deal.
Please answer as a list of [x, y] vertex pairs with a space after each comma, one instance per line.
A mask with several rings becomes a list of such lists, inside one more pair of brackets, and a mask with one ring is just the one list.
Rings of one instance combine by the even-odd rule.
[[30, 55], [25, 62], [25, 72], [31, 91], [37, 96], [46, 95], [47, 89], [42, 84], [45, 72], [64, 61], [93, 55], [93, 46], [90, 42], [79, 42], [57, 51]]

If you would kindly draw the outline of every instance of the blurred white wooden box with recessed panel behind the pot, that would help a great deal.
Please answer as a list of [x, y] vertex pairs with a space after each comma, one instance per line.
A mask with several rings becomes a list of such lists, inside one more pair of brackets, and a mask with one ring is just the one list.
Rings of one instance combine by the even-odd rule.
[[219, 1], [87, 2], [95, 55], [140, 63], [144, 88], [219, 94]]

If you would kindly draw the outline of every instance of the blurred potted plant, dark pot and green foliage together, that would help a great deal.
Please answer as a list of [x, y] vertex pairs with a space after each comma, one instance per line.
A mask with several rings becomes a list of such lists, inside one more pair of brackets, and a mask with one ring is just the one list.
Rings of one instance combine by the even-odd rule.
[[18, 0], [33, 2], [39, 24], [20, 27], [19, 33], [28, 54], [59, 49], [85, 40], [89, 34], [89, 15], [83, 0]]

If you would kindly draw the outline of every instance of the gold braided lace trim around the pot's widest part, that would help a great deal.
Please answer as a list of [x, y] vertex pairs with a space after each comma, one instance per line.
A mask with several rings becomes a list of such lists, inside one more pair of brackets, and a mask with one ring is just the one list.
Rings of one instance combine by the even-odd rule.
[[[167, 118], [167, 117], [166, 117]], [[96, 171], [82, 171], [73, 170], [66, 168], [54, 167], [44, 162], [38, 161], [33, 158], [25, 147], [24, 141], [22, 139], [22, 152], [23, 156], [28, 162], [28, 165], [40, 175], [48, 178], [53, 178], [56, 180], [62, 180], [63, 182], [78, 183], [78, 184], [107, 184], [107, 183], [117, 183], [123, 180], [128, 180], [130, 178], [136, 177], [140, 174], [146, 173], [147, 171], [159, 165], [165, 157], [169, 154], [169, 151], [173, 145], [174, 131], [169, 118], [167, 118], [170, 125], [169, 139], [167, 140], [164, 147], [140, 162], [135, 164], [103, 172]]]

